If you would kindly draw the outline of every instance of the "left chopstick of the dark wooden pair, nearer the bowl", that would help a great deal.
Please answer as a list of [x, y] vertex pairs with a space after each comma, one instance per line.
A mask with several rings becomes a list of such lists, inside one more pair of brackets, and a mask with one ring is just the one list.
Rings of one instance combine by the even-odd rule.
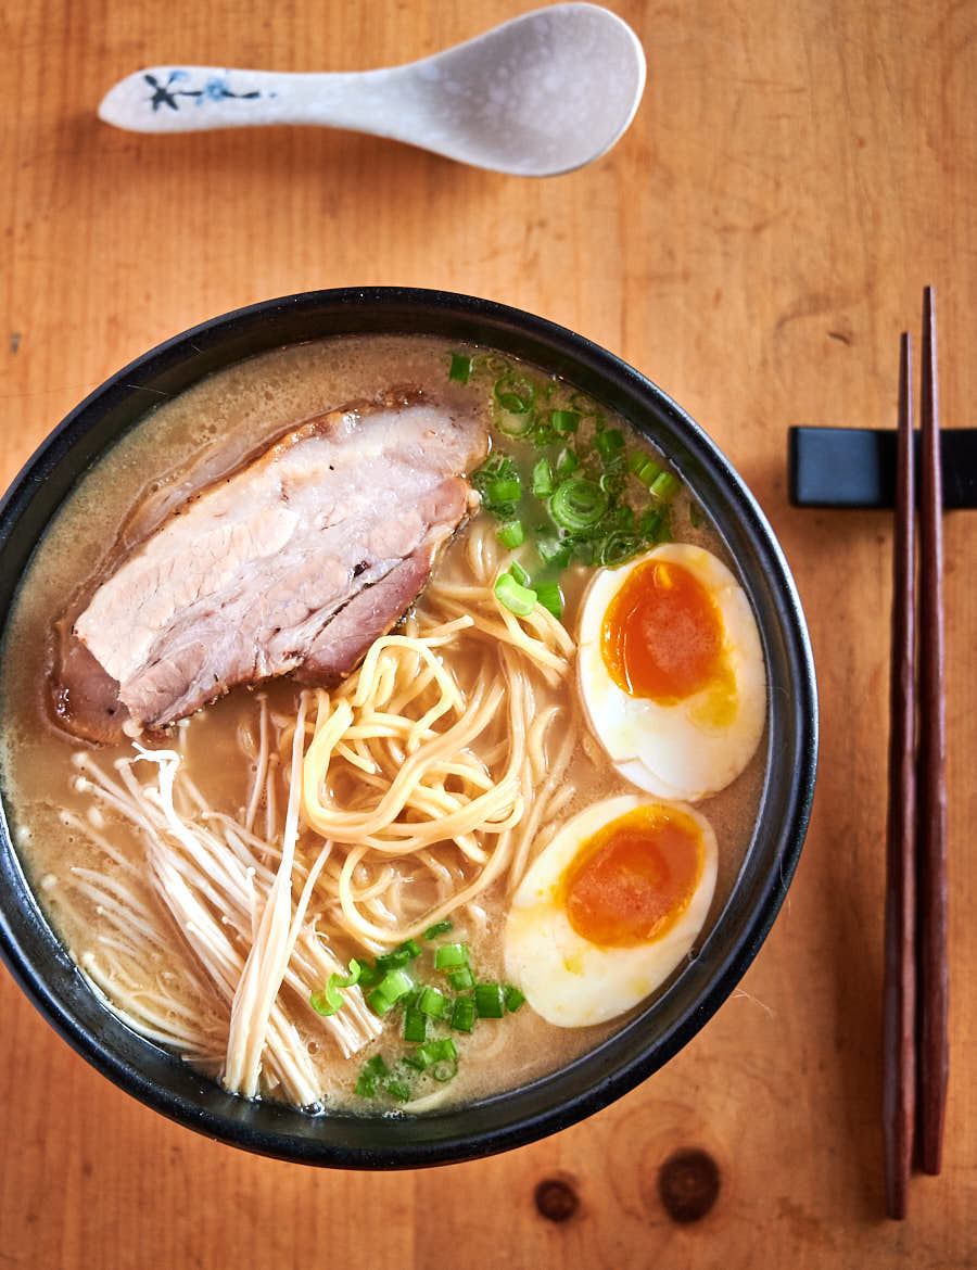
[[916, 490], [912, 448], [912, 340], [903, 333], [892, 554], [882, 1095], [886, 1213], [893, 1218], [906, 1215], [916, 1106]]

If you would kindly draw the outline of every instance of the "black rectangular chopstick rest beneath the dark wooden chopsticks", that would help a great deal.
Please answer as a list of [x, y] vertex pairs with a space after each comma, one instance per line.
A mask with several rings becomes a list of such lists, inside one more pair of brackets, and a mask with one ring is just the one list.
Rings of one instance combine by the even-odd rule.
[[[977, 507], [977, 428], [940, 433], [940, 466], [944, 511]], [[894, 507], [894, 429], [790, 428], [788, 493], [794, 507]]]

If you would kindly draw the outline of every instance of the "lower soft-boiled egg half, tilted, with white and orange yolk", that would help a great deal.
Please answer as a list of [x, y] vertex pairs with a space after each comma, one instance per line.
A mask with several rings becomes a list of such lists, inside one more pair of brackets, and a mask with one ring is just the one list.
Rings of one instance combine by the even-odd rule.
[[625, 794], [573, 817], [518, 885], [506, 974], [562, 1027], [638, 1005], [689, 954], [713, 902], [715, 834], [678, 803]]

